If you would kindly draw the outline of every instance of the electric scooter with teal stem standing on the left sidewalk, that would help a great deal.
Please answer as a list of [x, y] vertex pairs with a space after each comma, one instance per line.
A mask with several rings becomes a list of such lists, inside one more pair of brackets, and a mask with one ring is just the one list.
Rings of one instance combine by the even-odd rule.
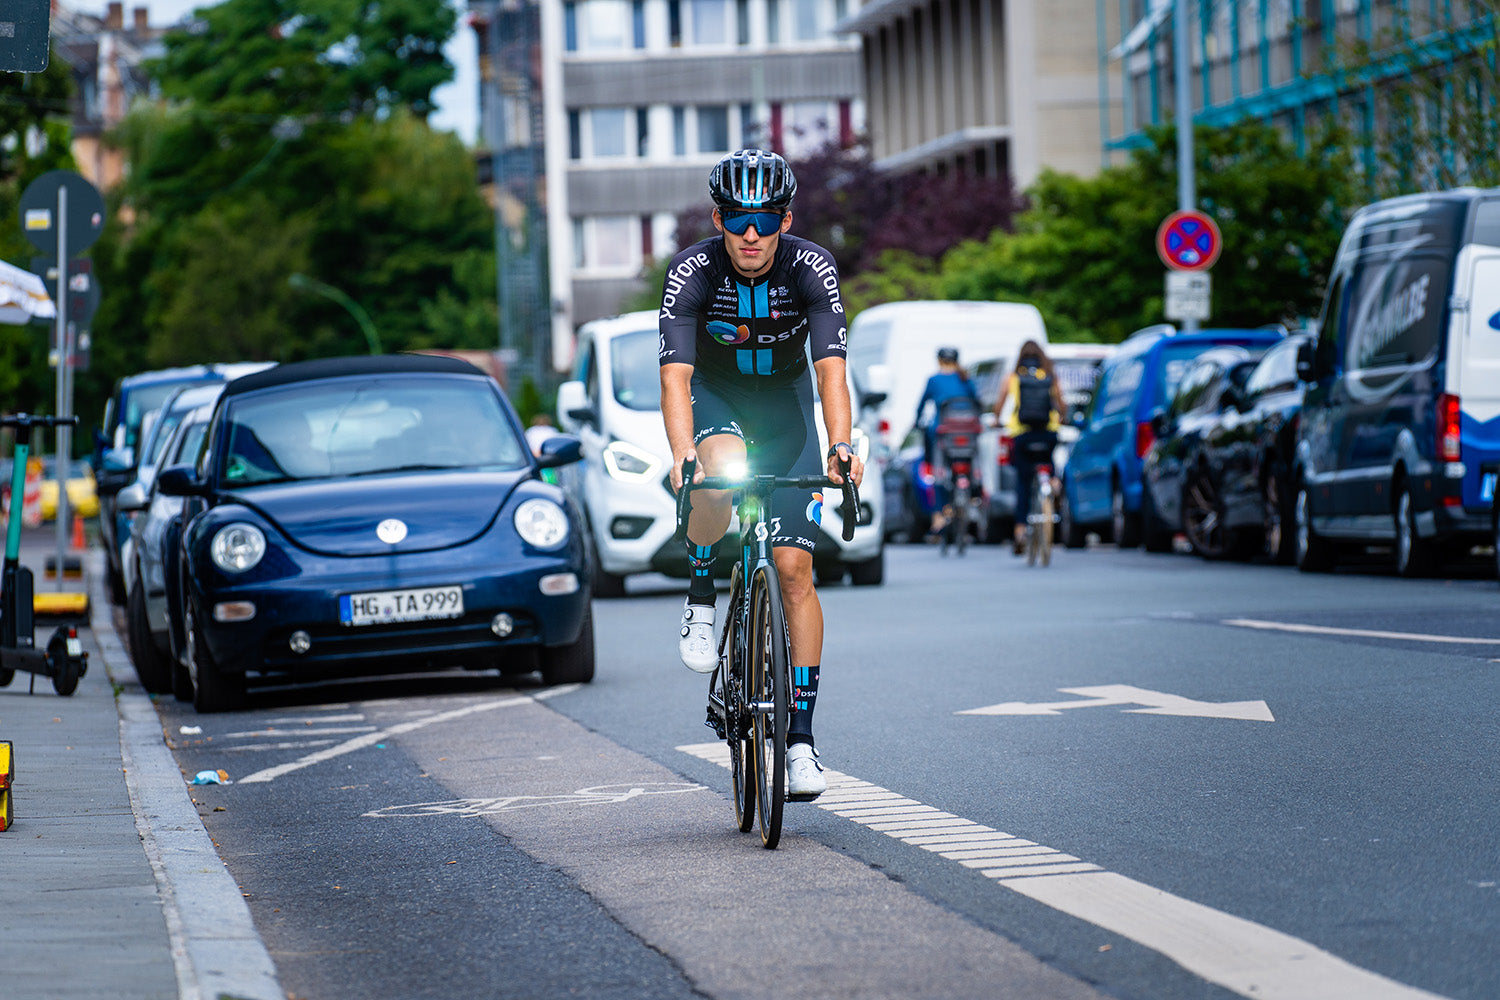
[[10, 684], [16, 670], [32, 675], [32, 690], [36, 690], [36, 675], [52, 679], [52, 690], [69, 696], [78, 690], [78, 681], [88, 670], [88, 654], [78, 639], [78, 628], [58, 625], [45, 649], [36, 648], [36, 622], [33, 619], [32, 570], [20, 564], [21, 556], [21, 498], [26, 496], [26, 460], [32, 453], [32, 427], [57, 427], [76, 424], [76, 417], [34, 417], [14, 414], [0, 417], [0, 427], [15, 429], [15, 463], [10, 469], [10, 517], [6, 522], [4, 570], [0, 576], [0, 687]]

